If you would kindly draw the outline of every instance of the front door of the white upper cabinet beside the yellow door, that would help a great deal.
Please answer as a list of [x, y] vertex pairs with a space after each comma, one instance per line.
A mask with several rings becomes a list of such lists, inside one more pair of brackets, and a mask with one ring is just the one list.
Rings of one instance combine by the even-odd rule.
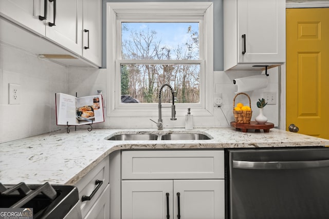
[[237, 0], [237, 41], [239, 63], [285, 62], [285, 1]]

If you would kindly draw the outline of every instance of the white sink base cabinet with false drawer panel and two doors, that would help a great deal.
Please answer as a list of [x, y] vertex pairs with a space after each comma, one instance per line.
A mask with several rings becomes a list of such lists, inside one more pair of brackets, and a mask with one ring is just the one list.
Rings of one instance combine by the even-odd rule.
[[123, 151], [121, 158], [122, 219], [225, 218], [223, 150]]

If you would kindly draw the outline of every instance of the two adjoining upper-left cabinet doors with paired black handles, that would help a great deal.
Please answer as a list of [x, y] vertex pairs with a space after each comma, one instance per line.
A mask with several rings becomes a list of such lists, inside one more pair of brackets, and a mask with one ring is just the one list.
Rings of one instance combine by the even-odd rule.
[[0, 15], [82, 54], [82, 0], [2, 0]]

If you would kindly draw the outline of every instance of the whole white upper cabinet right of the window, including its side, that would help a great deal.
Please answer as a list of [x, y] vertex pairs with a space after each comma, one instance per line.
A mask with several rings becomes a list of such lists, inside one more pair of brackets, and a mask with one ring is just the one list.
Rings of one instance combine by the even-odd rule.
[[284, 62], [285, 0], [224, 0], [224, 70]]

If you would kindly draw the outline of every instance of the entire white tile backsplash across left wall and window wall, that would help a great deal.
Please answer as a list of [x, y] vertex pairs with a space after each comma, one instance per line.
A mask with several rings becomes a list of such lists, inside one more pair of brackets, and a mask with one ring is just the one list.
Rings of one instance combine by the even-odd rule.
[[[279, 77], [277, 68], [268, 70], [269, 85], [267, 89], [246, 92], [251, 98], [253, 117], [258, 115], [256, 102], [262, 98], [264, 91], [278, 94]], [[63, 128], [56, 125], [56, 92], [85, 96], [103, 90], [105, 113], [107, 107], [107, 71], [106, 69], [65, 68], [40, 59], [20, 49], [0, 44], [0, 143], [28, 136], [38, 135]], [[195, 117], [195, 127], [226, 127], [234, 120], [232, 79], [258, 72], [215, 71], [215, 92], [223, 94], [223, 106], [214, 107], [213, 116]], [[8, 84], [21, 85], [21, 104], [8, 104]], [[277, 95], [277, 98], [279, 94]], [[208, 97], [212, 98], [212, 97]], [[243, 101], [247, 101], [244, 99]], [[248, 101], [247, 101], [248, 103]], [[279, 105], [267, 105], [264, 113], [269, 122], [278, 126]], [[155, 106], [156, 108], [156, 106]], [[155, 109], [156, 110], [156, 109]], [[222, 111], [223, 110], [223, 111]], [[185, 113], [177, 115], [177, 121], [170, 121], [163, 112], [167, 127], [184, 127]], [[157, 118], [153, 118], [157, 120]], [[149, 117], [106, 117], [105, 123], [94, 124], [95, 128], [156, 128]], [[81, 127], [85, 128], [85, 127]]]

